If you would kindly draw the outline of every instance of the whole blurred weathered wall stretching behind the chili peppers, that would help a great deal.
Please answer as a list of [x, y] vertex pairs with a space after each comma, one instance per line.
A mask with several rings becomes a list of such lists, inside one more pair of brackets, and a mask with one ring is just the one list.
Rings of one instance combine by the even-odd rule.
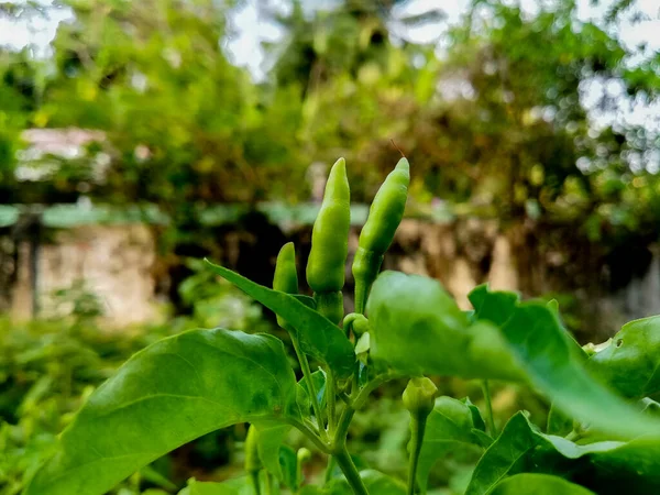
[[[237, 232], [226, 226], [218, 243], [231, 244]], [[277, 229], [276, 227], [274, 227]], [[282, 238], [293, 240], [299, 254], [299, 270], [306, 266], [311, 228], [288, 226]], [[451, 222], [405, 219], [385, 262], [385, 270], [399, 270], [431, 276], [442, 282], [462, 308], [469, 308], [469, 292], [479, 284], [490, 283], [495, 289], [513, 289], [526, 297], [547, 294], [568, 295], [570, 305], [562, 312], [576, 311], [582, 340], [602, 340], [624, 322], [660, 314], [660, 253], [652, 246], [650, 263], [641, 276], [631, 277], [620, 288], [607, 286], [604, 260], [586, 249], [541, 245], [534, 228], [517, 226], [504, 229], [497, 220], [462, 218]], [[271, 235], [272, 233], [264, 233]], [[350, 265], [358, 246], [359, 228], [351, 231], [346, 264], [346, 295], [352, 289]], [[99, 298], [108, 322], [125, 326], [150, 321], [156, 310], [156, 261], [152, 230], [144, 224], [82, 226], [53, 230], [43, 235], [37, 250], [28, 240], [15, 250], [15, 276], [9, 306], [16, 317], [54, 315], [58, 307], [54, 297], [84, 280], [84, 288]], [[219, 260], [241, 271], [254, 256], [274, 262], [278, 245], [264, 242], [260, 234], [245, 237], [250, 245], [224, 249], [226, 260]], [[267, 248], [265, 248], [267, 245]], [[233, 253], [233, 254], [231, 254]], [[37, 260], [33, 257], [36, 256]], [[252, 260], [242, 260], [243, 257]], [[262, 272], [272, 270], [266, 263]], [[36, 271], [31, 274], [31, 271]], [[270, 279], [272, 273], [258, 274]], [[305, 277], [300, 277], [304, 284]], [[263, 282], [263, 280], [262, 280]], [[560, 306], [562, 305], [560, 298]], [[346, 296], [346, 311], [352, 300]], [[578, 308], [578, 309], [575, 309]]]

